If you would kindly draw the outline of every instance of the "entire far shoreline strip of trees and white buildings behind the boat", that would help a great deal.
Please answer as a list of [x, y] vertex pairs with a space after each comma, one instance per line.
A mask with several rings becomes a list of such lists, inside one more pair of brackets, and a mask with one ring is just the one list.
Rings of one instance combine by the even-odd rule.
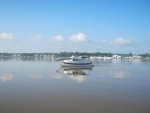
[[36, 58], [36, 59], [61, 59], [71, 56], [85, 56], [90, 59], [149, 59], [150, 54], [112, 54], [101, 52], [60, 52], [60, 53], [0, 53], [0, 58]]

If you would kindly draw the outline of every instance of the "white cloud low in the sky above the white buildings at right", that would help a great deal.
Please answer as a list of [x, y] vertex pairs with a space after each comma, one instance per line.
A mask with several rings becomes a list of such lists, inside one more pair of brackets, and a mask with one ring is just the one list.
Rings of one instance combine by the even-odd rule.
[[132, 41], [130, 39], [119, 37], [119, 38], [114, 39], [112, 43], [119, 44], [119, 45], [129, 45], [129, 44], [132, 44]]

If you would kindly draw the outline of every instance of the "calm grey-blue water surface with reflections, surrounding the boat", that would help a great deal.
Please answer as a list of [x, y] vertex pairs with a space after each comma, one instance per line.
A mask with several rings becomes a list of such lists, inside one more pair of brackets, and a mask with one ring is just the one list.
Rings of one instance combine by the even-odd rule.
[[150, 61], [0, 60], [0, 113], [150, 113]]

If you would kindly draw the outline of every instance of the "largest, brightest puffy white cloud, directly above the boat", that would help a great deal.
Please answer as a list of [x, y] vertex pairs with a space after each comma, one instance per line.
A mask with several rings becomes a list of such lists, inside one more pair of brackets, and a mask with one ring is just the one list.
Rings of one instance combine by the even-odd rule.
[[84, 33], [77, 33], [72, 35], [69, 40], [71, 42], [88, 42], [89, 39], [86, 37]]

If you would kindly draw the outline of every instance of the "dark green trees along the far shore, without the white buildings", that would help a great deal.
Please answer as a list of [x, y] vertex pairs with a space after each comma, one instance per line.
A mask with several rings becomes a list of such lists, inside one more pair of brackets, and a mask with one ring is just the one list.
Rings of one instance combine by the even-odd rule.
[[[85, 57], [90, 57], [90, 56], [99, 56], [99, 57], [112, 57], [112, 53], [101, 53], [101, 52], [60, 52], [60, 53], [0, 53], [0, 57], [43, 57], [43, 56], [54, 56], [56, 58], [58, 57], [71, 57], [71, 56], [85, 56]], [[120, 56], [132, 56], [132, 53], [128, 54], [117, 54]], [[149, 53], [145, 54], [139, 54], [142, 58], [150, 57]]]

